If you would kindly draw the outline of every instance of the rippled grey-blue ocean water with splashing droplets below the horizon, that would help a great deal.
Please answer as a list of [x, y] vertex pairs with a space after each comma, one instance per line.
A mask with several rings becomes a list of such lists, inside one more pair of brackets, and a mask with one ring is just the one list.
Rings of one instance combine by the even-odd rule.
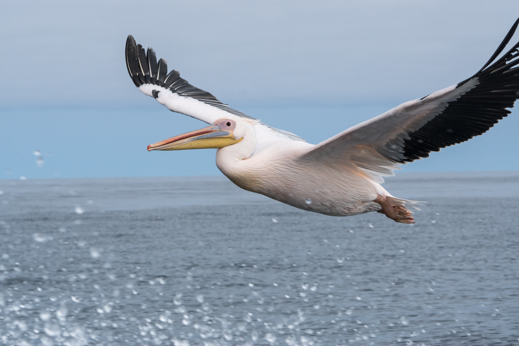
[[224, 177], [0, 180], [0, 344], [519, 345], [519, 172], [385, 187], [415, 225]]

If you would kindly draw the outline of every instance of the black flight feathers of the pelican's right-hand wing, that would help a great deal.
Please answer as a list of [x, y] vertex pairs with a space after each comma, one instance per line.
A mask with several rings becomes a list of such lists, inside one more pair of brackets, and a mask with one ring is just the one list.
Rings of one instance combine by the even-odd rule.
[[[432, 151], [462, 143], [481, 135], [508, 116], [519, 99], [519, 43], [496, 61], [519, 26], [515, 21], [488, 62], [456, 88], [477, 78], [479, 84], [448, 103], [445, 110], [404, 140], [401, 163], [429, 157]], [[426, 96], [427, 97], [427, 96]]]

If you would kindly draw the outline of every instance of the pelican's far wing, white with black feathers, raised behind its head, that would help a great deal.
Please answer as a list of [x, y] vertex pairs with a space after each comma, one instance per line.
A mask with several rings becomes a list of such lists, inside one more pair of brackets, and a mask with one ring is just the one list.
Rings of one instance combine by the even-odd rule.
[[[180, 77], [180, 73], [172, 70], [168, 73], [166, 60], [159, 59], [155, 51], [149, 47], [147, 52], [135, 43], [132, 35], [126, 40], [126, 67], [136, 87], [148, 96], [153, 96], [160, 104], [173, 112], [213, 123], [218, 118], [235, 115], [254, 119], [247, 114], [218, 101], [211, 93], [190, 85]], [[254, 119], [255, 120], [255, 119]], [[294, 141], [304, 141], [295, 134], [272, 128], [258, 122], [261, 128], [270, 133]]]

